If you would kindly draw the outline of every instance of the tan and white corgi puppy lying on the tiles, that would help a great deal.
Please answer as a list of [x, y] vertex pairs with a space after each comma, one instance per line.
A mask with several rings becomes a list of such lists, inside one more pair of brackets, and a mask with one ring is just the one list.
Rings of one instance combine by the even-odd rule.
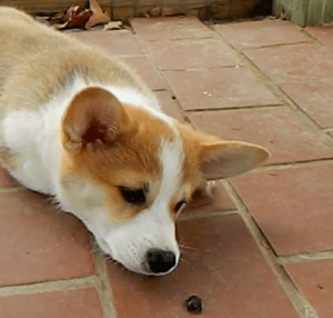
[[2, 166], [142, 275], [179, 264], [175, 220], [195, 190], [270, 156], [181, 125], [128, 66], [4, 7], [0, 109]]

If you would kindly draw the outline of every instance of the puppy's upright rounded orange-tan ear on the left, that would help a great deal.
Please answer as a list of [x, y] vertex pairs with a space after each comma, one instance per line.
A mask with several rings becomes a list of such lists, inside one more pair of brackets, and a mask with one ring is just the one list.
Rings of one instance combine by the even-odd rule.
[[79, 152], [112, 143], [130, 127], [123, 106], [109, 91], [90, 87], [71, 100], [62, 118], [63, 147]]

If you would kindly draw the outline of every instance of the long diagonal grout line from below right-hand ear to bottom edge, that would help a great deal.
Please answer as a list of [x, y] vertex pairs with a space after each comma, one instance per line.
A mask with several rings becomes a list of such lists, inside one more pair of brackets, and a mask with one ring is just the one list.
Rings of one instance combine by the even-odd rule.
[[280, 286], [285, 291], [286, 296], [289, 297], [291, 304], [294, 306], [296, 311], [303, 318], [319, 318], [315, 310], [312, 308], [310, 302], [299, 291], [290, 276], [287, 275], [286, 270], [283, 266], [279, 262], [276, 255], [271, 247], [269, 240], [262, 233], [260, 227], [256, 225], [255, 220], [250, 215], [249, 210], [246, 209], [245, 205], [243, 203], [242, 199], [239, 197], [232, 185], [229, 180], [222, 181], [228, 193], [230, 195], [232, 201], [234, 202], [235, 207], [239, 210], [240, 216], [242, 217], [243, 221], [245, 222], [249, 231], [251, 232], [256, 246], [261, 250], [262, 255], [264, 256], [266, 262], [269, 264], [270, 268], [272, 269], [273, 274], [275, 275]]

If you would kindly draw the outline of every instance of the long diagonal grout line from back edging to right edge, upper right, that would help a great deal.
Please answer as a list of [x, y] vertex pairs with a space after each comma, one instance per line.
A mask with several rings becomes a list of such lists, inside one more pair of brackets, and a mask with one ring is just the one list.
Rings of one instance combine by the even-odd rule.
[[[248, 67], [252, 73], [261, 80], [261, 82], [275, 95], [279, 99], [283, 100], [285, 105], [294, 112], [296, 117], [299, 117], [302, 122], [305, 123], [307, 128], [314, 132], [319, 139], [326, 146], [332, 147], [333, 141], [330, 136], [327, 136], [322, 128], [312, 119], [292, 98], [290, 98], [279, 83], [275, 83], [266, 73], [264, 73], [254, 62], [251, 61], [250, 58], [245, 56], [244, 52], [233, 47], [221, 33], [219, 33], [214, 28], [212, 30], [215, 31], [216, 36], [222, 40], [225, 44], [228, 44], [235, 54], [240, 58], [240, 60], [244, 63], [244, 67]], [[317, 43], [315, 43], [317, 44]], [[255, 50], [255, 49], [253, 49]]]

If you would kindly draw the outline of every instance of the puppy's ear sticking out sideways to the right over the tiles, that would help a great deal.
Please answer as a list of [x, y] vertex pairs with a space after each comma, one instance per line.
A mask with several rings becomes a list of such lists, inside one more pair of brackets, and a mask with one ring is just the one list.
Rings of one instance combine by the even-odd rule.
[[248, 142], [209, 138], [201, 143], [199, 157], [200, 171], [204, 178], [216, 180], [259, 167], [270, 157], [270, 152], [263, 147]]

